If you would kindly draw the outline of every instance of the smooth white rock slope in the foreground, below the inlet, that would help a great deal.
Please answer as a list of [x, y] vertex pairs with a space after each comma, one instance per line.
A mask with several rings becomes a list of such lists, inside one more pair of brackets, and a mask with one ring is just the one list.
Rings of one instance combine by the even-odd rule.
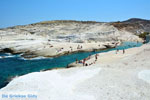
[[0, 92], [37, 92], [37, 100], [149, 100], [149, 54], [149, 44], [99, 54], [94, 65], [20, 76]]

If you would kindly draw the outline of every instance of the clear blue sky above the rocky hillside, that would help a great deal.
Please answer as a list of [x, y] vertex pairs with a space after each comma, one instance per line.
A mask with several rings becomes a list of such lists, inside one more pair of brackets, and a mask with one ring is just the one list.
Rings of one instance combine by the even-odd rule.
[[0, 0], [0, 28], [48, 20], [150, 20], [150, 0]]

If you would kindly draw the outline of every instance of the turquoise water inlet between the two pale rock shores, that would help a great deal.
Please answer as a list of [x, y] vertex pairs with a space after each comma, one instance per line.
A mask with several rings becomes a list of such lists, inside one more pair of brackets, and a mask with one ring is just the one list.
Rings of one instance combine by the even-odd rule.
[[141, 46], [142, 43], [125, 42], [123, 45], [109, 50], [96, 51], [96, 52], [80, 52], [69, 55], [64, 55], [56, 58], [24, 60], [20, 55], [0, 54], [0, 88], [6, 86], [10, 79], [15, 76], [24, 75], [31, 72], [39, 72], [41, 70], [47, 70], [52, 68], [66, 67], [68, 64], [74, 62], [76, 59], [81, 60], [101, 52], [108, 52], [112, 50], [122, 50], [132, 47]]

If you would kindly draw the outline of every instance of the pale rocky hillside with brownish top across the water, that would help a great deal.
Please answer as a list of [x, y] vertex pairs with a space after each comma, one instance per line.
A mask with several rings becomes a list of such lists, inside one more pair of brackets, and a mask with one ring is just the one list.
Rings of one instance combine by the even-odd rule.
[[[149, 21], [139, 21], [138, 19], [114, 23], [71, 20], [45, 21], [1, 29], [0, 51], [6, 51], [7, 48], [13, 50], [14, 53], [45, 56], [43, 52], [51, 52], [52, 54], [46, 56], [55, 56], [68, 52], [68, 49], [58, 54], [56, 51], [59, 51], [65, 44], [68, 44], [65, 47], [69, 48], [70, 43], [75, 43], [75, 46], [89, 43], [100, 45], [97, 48], [94, 45], [89, 46], [84, 48], [85, 51], [90, 48], [104, 49], [108, 46], [115, 47], [115, 43], [122, 41], [141, 42], [142, 39], [135, 34], [149, 31], [148, 27]], [[63, 44], [55, 47], [59, 43]], [[104, 47], [104, 45], [106, 46]]]

